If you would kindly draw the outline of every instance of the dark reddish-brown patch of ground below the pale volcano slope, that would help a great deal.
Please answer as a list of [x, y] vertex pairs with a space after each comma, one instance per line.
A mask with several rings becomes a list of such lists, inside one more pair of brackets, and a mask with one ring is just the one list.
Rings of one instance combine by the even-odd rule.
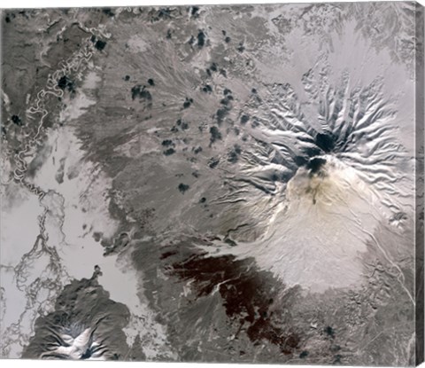
[[[175, 253], [162, 254], [167, 259]], [[246, 333], [255, 344], [267, 340], [290, 355], [300, 345], [298, 333], [277, 326], [275, 301], [279, 298], [277, 281], [266, 271], [253, 271], [252, 260], [236, 260], [234, 255], [208, 257], [194, 254], [182, 262], [171, 264], [171, 273], [182, 280], [193, 280], [197, 297], [207, 296], [218, 287], [227, 316], [239, 322], [236, 333], [247, 324]], [[279, 302], [282, 308], [282, 302]]]

